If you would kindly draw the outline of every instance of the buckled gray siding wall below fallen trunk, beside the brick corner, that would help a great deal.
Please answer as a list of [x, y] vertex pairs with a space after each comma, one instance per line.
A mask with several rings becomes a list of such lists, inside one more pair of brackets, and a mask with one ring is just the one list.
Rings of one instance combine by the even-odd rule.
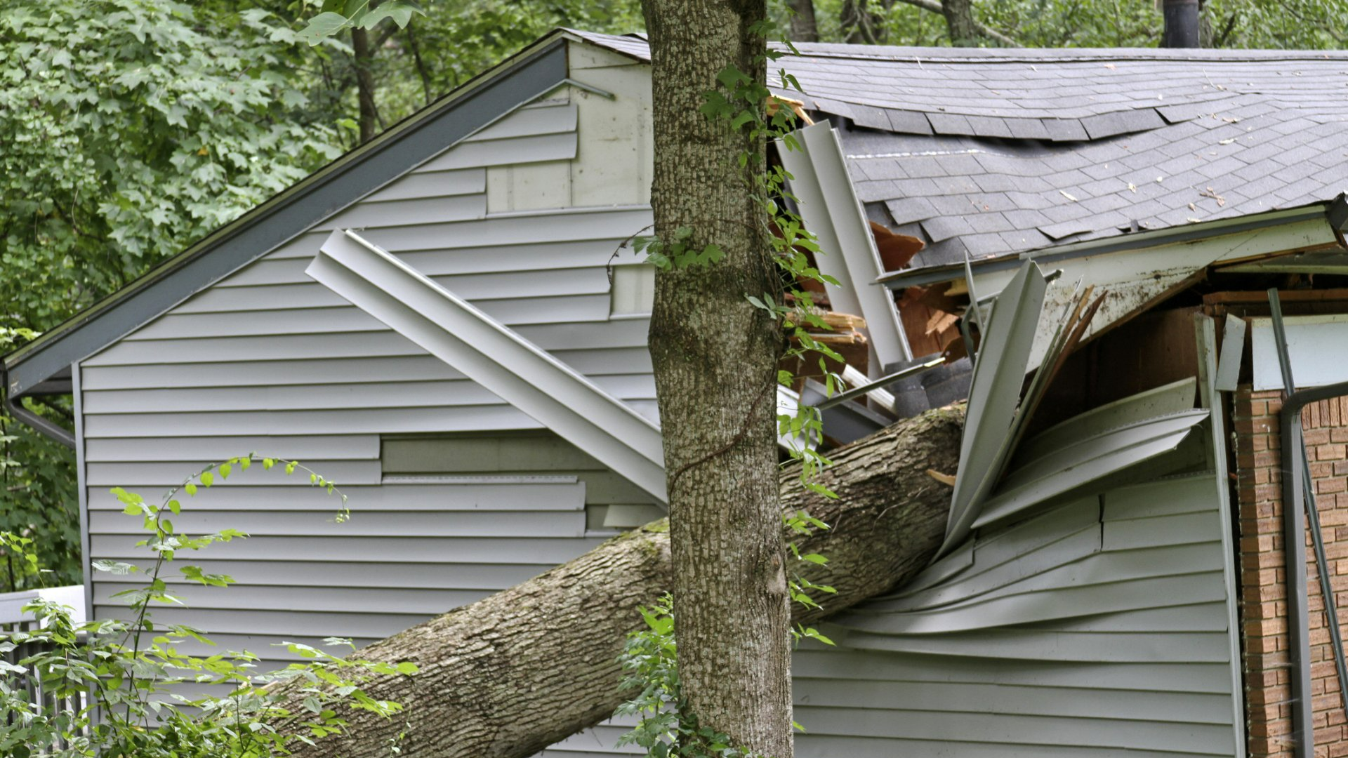
[[949, 579], [844, 614], [838, 650], [797, 657], [798, 696], [828, 707], [822, 728], [845, 727], [811, 738], [837, 751], [872, 738], [950, 755], [1235, 754], [1219, 486], [1206, 472], [1086, 495], [985, 530], [972, 565], [941, 561], [962, 566]]

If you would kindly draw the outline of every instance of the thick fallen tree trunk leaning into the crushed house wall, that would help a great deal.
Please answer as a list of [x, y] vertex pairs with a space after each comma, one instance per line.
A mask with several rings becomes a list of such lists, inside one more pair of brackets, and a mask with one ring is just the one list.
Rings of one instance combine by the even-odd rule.
[[[926, 471], [954, 472], [961, 422], [957, 409], [929, 411], [840, 448], [822, 476], [836, 500], [806, 492], [794, 469], [782, 475], [783, 508], [833, 526], [795, 538], [802, 553], [829, 558], [806, 575], [838, 591], [821, 599], [821, 611], [795, 608], [795, 620], [840, 611], [926, 565], [945, 535], [950, 502], [949, 487]], [[360, 657], [421, 669], [365, 688], [404, 711], [391, 720], [346, 713], [348, 734], [301, 746], [297, 755], [387, 755], [396, 739], [404, 757], [527, 758], [621, 704], [617, 655], [640, 626], [636, 608], [667, 591], [671, 577], [661, 521], [376, 642]], [[299, 696], [288, 695], [298, 712]]]

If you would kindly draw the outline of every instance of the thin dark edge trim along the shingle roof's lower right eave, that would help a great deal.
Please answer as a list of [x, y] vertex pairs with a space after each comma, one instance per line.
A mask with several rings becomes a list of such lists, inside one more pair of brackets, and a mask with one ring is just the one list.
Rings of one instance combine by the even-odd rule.
[[[993, 271], [1016, 268], [1020, 266], [1020, 262], [1027, 258], [1037, 263], [1047, 264], [1070, 258], [1126, 252], [1131, 250], [1159, 247], [1163, 244], [1194, 241], [1220, 235], [1233, 235], [1252, 229], [1267, 229], [1273, 227], [1282, 227], [1283, 224], [1305, 221], [1308, 218], [1326, 218], [1336, 229], [1343, 231], [1340, 221], [1343, 218], [1348, 218], [1348, 198], [1345, 198], [1345, 196], [1339, 196], [1332, 201], [1314, 202], [1294, 209], [1255, 213], [1235, 218], [1219, 218], [1205, 224], [1169, 227], [1165, 229], [1134, 232], [1131, 235], [1046, 247], [1029, 252], [1003, 255], [999, 258], [985, 258], [983, 260], [972, 262], [972, 266], [975, 271], [991, 274]], [[905, 287], [919, 287], [962, 278], [964, 263], [946, 263], [944, 266], [894, 271], [878, 278], [875, 282], [890, 287], [891, 290], [902, 290]]]

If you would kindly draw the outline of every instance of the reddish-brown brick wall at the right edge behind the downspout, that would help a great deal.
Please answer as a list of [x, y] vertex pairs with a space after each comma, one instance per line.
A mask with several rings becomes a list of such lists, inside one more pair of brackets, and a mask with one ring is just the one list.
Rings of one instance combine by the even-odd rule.
[[[1240, 507], [1240, 623], [1244, 649], [1250, 757], [1291, 757], [1287, 672], [1286, 561], [1282, 541], [1282, 477], [1278, 440], [1281, 392], [1236, 391], [1232, 409]], [[1302, 411], [1325, 553], [1333, 572], [1340, 629], [1348, 634], [1348, 398]], [[1316, 755], [1348, 755], [1348, 728], [1339, 699], [1320, 577], [1306, 540], [1310, 611], [1310, 676]]]

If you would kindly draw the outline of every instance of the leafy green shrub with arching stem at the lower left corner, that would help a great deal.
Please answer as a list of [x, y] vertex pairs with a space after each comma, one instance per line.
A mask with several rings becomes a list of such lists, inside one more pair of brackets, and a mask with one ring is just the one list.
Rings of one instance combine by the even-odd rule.
[[[241, 540], [236, 530], [189, 535], [173, 526], [170, 517], [182, 513], [178, 492], [209, 487], [218, 475], [229, 477], [255, 461], [286, 464], [310, 475], [314, 486], [340, 495], [340, 518], [346, 517], [346, 496], [336, 486], [295, 461], [240, 456], [206, 467], [151, 503], [123, 488], [112, 494], [125, 514], [139, 517], [147, 538], [137, 545], [152, 557], [151, 568], [120, 561], [97, 561], [94, 569], [120, 576], [144, 575], [146, 583], [117, 593], [128, 604], [128, 618], [75, 624], [70, 610], [49, 600], [26, 607], [39, 622], [36, 631], [15, 633], [0, 641], [0, 653], [19, 657], [0, 660], [0, 754], [27, 758], [272, 758], [291, 753], [298, 743], [338, 734], [345, 722], [337, 707], [391, 716], [400, 705], [376, 700], [361, 685], [375, 676], [412, 676], [410, 662], [391, 664], [342, 658], [328, 650], [295, 642], [283, 643], [303, 658], [286, 669], [259, 674], [257, 655], [225, 651], [198, 657], [183, 651], [185, 643], [212, 645], [186, 624], [156, 624], [151, 607], [185, 604], [164, 580], [167, 564], [183, 550], [197, 552], [217, 542]], [[270, 468], [270, 467], [268, 467]], [[0, 545], [15, 550], [30, 566], [38, 565], [31, 540], [0, 534]], [[187, 584], [228, 587], [229, 576], [212, 575], [185, 565]], [[350, 651], [350, 641], [326, 643]], [[20, 647], [22, 646], [22, 647]], [[16, 650], [22, 650], [18, 651]], [[24, 682], [40, 682], [53, 700], [30, 703]], [[301, 695], [301, 711], [288, 711], [268, 685], [293, 682]], [[186, 685], [186, 687], [185, 687]], [[193, 696], [185, 692], [212, 691]], [[286, 728], [282, 728], [282, 727]], [[398, 753], [396, 742], [390, 753]]]

